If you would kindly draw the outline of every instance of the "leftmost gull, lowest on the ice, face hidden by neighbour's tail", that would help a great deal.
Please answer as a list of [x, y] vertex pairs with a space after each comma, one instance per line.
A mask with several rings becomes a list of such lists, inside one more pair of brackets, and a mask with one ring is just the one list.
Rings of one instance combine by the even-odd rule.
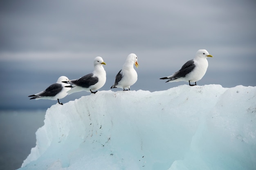
[[34, 95], [30, 95], [28, 97], [32, 97], [30, 99], [49, 99], [49, 100], [58, 100], [58, 104], [60, 103], [59, 99], [64, 98], [67, 95], [67, 91], [70, 90], [69, 87], [64, 87], [65, 83], [63, 81], [68, 80], [66, 76], [61, 76], [58, 78], [57, 82], [47, 87], [45, 91], [41, 91]]

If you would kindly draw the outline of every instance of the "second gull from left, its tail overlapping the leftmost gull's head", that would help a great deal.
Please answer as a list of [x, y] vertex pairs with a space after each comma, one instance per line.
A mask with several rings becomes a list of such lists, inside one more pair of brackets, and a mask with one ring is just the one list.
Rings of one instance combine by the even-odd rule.
[[87, 91], [95, 94], [106, 83], [106, 71], [103, 68], [103, 64], [106, 65], [101, 57], [95, 57], [94, 71], [92, 73], [80, 79], [63, 81], [63, 83], [70, 84], [70, 86], [65, 86], [71, 87], [71, 90], [67, 91], [67, 93], [70, 95], [79, 91]]

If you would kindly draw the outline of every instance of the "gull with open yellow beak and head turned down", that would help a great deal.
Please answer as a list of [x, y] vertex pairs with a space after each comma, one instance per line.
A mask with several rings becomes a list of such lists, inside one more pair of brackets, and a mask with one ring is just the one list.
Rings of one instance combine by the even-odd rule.
[[[126, 62], [123, 65], [123, 68], [117, 73], [115, 84], [111, 88], [128, 88], [137, 82], [137, 72], [133, 68], [133, 64], [138, 68], [139, 64], [137, 63], [137, 56], [133, 53], [129, 54]], [[127, 90], [128, 91], [128, 90]]]

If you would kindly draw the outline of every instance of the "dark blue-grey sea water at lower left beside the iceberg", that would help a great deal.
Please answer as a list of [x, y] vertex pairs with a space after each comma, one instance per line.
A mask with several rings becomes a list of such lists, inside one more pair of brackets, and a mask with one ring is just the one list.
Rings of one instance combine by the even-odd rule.
[[16, 170], [36, 146], [45, 110], [0, 110], [0, 170]]

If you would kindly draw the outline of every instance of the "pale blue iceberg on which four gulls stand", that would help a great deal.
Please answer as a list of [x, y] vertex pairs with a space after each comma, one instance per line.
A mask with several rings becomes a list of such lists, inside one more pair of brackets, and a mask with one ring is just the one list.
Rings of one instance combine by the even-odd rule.
[[99, 91], [47, 109], [19, 170], [255, 170], [256, 87]]

